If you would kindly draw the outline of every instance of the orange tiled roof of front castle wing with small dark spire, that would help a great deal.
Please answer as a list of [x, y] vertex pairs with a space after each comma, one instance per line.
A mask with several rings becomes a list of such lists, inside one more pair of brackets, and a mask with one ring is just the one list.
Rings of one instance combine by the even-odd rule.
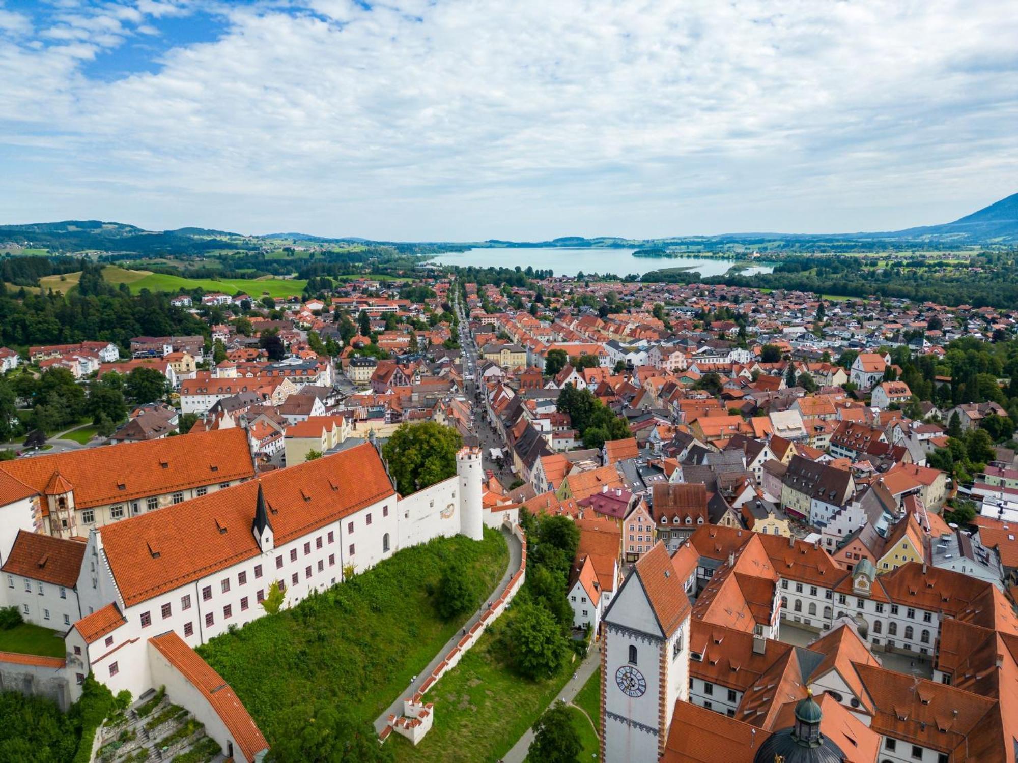
[[278, 545], [395, 495], [378, 452], [364, 444], [107, 525], [98, 532], [124, 603], [258, 555], [250, 527], [259, 485]]

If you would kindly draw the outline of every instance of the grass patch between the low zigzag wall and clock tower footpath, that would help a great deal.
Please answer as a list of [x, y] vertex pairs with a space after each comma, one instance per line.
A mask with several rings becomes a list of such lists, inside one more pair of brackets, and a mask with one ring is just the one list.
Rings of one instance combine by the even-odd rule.
[[[413, 747], [392, 735], [396, 761], [487, 763], [502, 758], [533, 725], [572, 674], [530, 682], [510, 670], [497, 645], [499, 633], [512, 618], [510, 609], [497, 620], [452, 670], [425, 697], [435, 703], [435, 725]], [[592, 731], [591, 731], [592, 733]]]

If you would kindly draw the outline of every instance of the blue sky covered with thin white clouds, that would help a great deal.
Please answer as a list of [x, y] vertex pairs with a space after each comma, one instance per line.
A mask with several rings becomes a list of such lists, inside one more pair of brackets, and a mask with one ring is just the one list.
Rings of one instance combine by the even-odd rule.
[[0, 224], [893, 230], [1016, 126], [1014, 0], [0, 0]]

